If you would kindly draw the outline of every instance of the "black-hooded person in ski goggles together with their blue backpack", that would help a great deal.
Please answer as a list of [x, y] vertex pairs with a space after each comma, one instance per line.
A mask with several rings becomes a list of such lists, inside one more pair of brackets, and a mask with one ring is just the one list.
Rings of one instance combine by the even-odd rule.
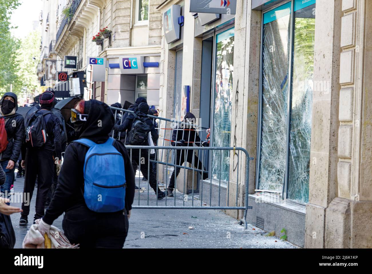
[[122, 248], [134, 200], [134, 173], [124, 145], [109, 133], [109, 106], [81, 100], [71, 110], [79, 139], [68, 144], [52, 201], [38, 221], [42, 235], [63, 212], [62, 228], [80, 248]]

